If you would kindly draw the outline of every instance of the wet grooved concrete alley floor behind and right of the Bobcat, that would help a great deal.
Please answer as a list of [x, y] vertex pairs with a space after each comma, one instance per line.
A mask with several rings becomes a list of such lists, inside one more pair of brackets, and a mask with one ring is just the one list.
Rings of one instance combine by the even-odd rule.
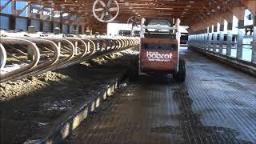
[[142, 77], [110, 97], [66, 143], [256, 143], [256, 78], [182, 50], [187, 77]]

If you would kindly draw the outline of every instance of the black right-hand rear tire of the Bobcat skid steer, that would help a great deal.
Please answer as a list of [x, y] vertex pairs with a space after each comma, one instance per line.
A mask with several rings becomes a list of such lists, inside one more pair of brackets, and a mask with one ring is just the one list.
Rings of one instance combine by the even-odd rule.
[[185, 82], [186, 80], [186, 62], [183, 59], [179, 60], [178, 73], [174, 74], [176, 82]]

